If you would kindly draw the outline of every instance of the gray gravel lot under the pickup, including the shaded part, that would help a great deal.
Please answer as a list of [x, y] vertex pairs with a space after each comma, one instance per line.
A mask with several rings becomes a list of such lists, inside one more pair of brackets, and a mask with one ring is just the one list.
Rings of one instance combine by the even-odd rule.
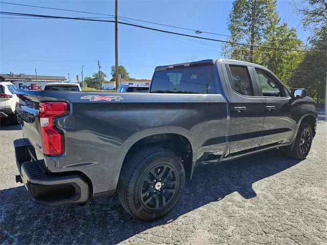
[[0, 243], [327, 244], [327, 121], [320, 111], [306, 160], [278, 150], [219, 165], [201, 165], [177, 207], [154, 223], [138, 222], [117, 197], [86, 206], [34, 204], [18, 173], [12, 142], [0, 131]]

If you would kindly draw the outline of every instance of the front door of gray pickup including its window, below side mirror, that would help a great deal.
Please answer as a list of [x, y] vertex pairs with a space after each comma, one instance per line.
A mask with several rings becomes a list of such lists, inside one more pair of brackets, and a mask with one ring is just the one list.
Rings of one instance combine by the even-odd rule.
[[270, 71], [253, 67], [259, 94], [264, 100], [264, 138], [261, 148], [292, 140], [296, 122], [289, 106], [290, 94]]

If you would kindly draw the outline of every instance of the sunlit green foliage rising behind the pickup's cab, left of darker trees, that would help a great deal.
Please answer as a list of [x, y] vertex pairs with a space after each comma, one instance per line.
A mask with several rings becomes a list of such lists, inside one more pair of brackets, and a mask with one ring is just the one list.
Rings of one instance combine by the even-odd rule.
[[235, 0], [229, 14], [228, 29], [230, 41], [276, 48], [227, 44], [223, 46], [223, 51], [228, 58], [266, 66], [290, 87], [290, 79], [305, 54], [278, 50], [300, 49], [303, 44], [296, 30], [280, 21], [275, 0]]

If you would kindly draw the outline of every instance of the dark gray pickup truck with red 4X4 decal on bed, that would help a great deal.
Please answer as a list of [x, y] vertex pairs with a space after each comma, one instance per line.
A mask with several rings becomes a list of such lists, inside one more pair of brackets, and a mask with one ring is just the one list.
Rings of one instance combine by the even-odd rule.
[[16, 181], [33, 201], [85, 204], [117, 193], [147, 221], [176, 205], [198, 163], [273, 148], [306, 158], [317, 120], [304, 89], [235, 60], [158, 66], [149, 93], [16, 93]]

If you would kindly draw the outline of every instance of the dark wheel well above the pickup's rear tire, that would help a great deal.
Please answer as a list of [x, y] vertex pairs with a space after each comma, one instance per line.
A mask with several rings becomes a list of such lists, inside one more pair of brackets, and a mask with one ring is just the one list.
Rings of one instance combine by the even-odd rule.
[[184, 165], [186, 177], [189, 179], [192, 178], [192, 145], [186, 137], [180, 134], [155, 134], [138, 140], [128, 150], [124, 158], [123, 165], [125, 164], [128, 157], [132, 156], [137, 151], [149, 146], [164, 148], [175, 153]]

